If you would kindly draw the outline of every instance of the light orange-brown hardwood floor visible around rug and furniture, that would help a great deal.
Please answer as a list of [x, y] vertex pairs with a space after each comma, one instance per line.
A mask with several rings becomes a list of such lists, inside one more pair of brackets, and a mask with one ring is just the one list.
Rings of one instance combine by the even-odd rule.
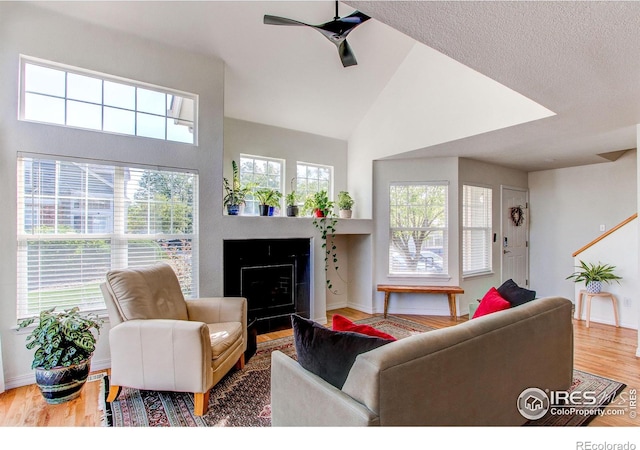
[[[364, 319], [370, 315], [353, 309], [329, 311], [327, 320], [331, 324], [333, 314], [342, 314], [352, 320]], [[404, 316], [434, 328], [456, 325], [457, 321], [441, 316]], [[263, 342], [291, 334], [291, 330], [277, 331], [258, 336]], [[635, 356], [638, 346], [636, 330], [616, 328], [609, 325], [591, 323], [586, 328], [584, 321], [574, 321], [575, 357], [574, 367], [627, 384], [624, 395], [630, 389], [640, 388], [640, 358]], [[35, 385], [8, 390], [0, 394], [0, 426], [37, 427], [96, 427], [100, 426], [101, 411], [98, 409], [99, 382], [87, 382], [81, 396], [62, 405], [47, 405]], [[639, 405], [640, 406], [640, 405]], [[624, 416], [596, 417], [590, 426], [636, 427], [640, 418]]]

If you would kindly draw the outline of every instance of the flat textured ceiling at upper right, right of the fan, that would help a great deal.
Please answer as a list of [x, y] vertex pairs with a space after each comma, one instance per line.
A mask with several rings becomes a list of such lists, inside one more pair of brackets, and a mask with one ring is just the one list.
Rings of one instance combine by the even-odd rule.
[[541, 170], [636, 147], [640, 2], [347, 3], [556, 113], [402, 156]]

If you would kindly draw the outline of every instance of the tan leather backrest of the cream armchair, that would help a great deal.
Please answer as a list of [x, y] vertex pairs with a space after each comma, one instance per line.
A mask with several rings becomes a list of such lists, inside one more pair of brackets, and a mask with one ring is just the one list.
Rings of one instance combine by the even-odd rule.
[[106, 285], [123, 320], [188, 320], [180, 282], [168, 264], [111, 270]]

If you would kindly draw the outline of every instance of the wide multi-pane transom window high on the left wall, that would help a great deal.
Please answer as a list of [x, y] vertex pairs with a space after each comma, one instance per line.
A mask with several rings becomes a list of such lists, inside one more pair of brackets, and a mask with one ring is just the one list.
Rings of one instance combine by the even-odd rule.
[[194, 144], [197, 96], [21, 58], [20, 119]]

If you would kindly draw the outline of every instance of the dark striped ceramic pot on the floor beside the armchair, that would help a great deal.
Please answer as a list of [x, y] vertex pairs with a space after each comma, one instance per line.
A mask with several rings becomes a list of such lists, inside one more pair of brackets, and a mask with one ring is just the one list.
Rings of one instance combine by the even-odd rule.
[[68, 402], [80, 395], [89, 376], [91, 359], [69, 367], [40, 369], [36, 367], [36, 384], [50, 405]]

